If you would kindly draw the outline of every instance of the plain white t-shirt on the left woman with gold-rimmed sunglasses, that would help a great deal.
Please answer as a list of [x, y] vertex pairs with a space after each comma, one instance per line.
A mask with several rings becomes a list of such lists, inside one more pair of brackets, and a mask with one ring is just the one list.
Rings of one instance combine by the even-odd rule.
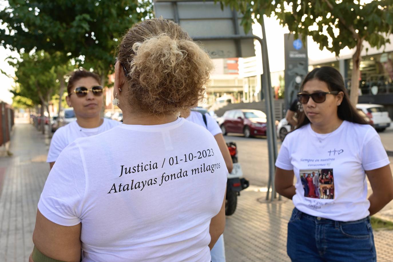
[[57, 129], [50, 141], [47, 163], [55, 162], [61, 151], [70, 145], [79, 137], [88, 137], [105, 132], [114, 126], [120, 125], [121, 122], [104, 118], [103, 123], [96, 128], [83, 128], [78, 125], [77, 121], [73, 121], [61, 128]]

